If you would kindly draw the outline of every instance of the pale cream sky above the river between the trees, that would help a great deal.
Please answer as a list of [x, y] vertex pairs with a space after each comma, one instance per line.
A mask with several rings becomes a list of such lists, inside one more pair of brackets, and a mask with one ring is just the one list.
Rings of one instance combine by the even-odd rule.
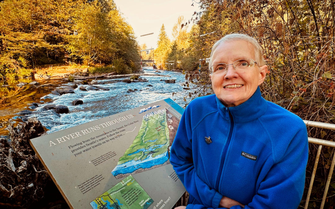
[[[178, 17], [183, 15], [188, 21], [195, 11], [199, 12], [199, 4], [194, 0], [114, 0], [114, 2], [121, 15], [133, 27], [138, 43], [140, 45], [145, 43], [148, 48], [157, 47], [162, 24], [172, 40], [172, 27], [177, 23]], [[194, 6], [191, 6], [192, 4]], [[153, 34], [140, 37], [148, 33]]]

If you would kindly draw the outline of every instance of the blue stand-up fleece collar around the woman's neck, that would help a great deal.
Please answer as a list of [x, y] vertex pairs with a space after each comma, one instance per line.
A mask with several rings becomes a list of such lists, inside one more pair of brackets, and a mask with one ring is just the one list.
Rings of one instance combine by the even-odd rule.
[[235, 123], [255, 120], [263, 115], [267, 109], [267, 102], [261, 96], [259, 87], [257, 87], [255, 93], [247, 101], [235, 107], [227, 108], [216, 96], [215, 98], [221, 116], [227, 118], [226, 115], [230, 113]]

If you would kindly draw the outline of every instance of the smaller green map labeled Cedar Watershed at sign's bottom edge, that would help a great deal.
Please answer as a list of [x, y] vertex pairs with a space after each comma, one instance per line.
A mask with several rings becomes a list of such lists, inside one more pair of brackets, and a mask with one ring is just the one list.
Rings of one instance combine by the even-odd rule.
[[146, 209], [153, 203], [151, 197], [129, 175], [114, 187], [95, 198], [93, 209]]

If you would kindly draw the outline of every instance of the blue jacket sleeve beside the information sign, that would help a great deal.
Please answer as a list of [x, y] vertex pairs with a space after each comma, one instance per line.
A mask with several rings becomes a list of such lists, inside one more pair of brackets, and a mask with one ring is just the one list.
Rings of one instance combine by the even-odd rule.
[[171, 147], [170, 162], [186, 190], [197, 202], [206, 207], [217, 208], [222, 195], [202, 181], [194, 168], [191, 112], [189, 106], [184, 111], [179, 123], [177, 134]]

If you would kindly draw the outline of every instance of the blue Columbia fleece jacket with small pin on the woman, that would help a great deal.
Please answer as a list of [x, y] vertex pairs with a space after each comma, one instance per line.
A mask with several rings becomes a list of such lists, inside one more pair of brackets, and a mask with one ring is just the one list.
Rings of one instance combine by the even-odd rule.
[[263, 99], [259, 87], [235, 107], [226, 108], [215, 95], [194, 99], [183, 113], [170, 154], [190, 193], [187, 209], [218, 208], [222, 196], [246, 209], [296, 209], [307, 160], [303, 120]]

